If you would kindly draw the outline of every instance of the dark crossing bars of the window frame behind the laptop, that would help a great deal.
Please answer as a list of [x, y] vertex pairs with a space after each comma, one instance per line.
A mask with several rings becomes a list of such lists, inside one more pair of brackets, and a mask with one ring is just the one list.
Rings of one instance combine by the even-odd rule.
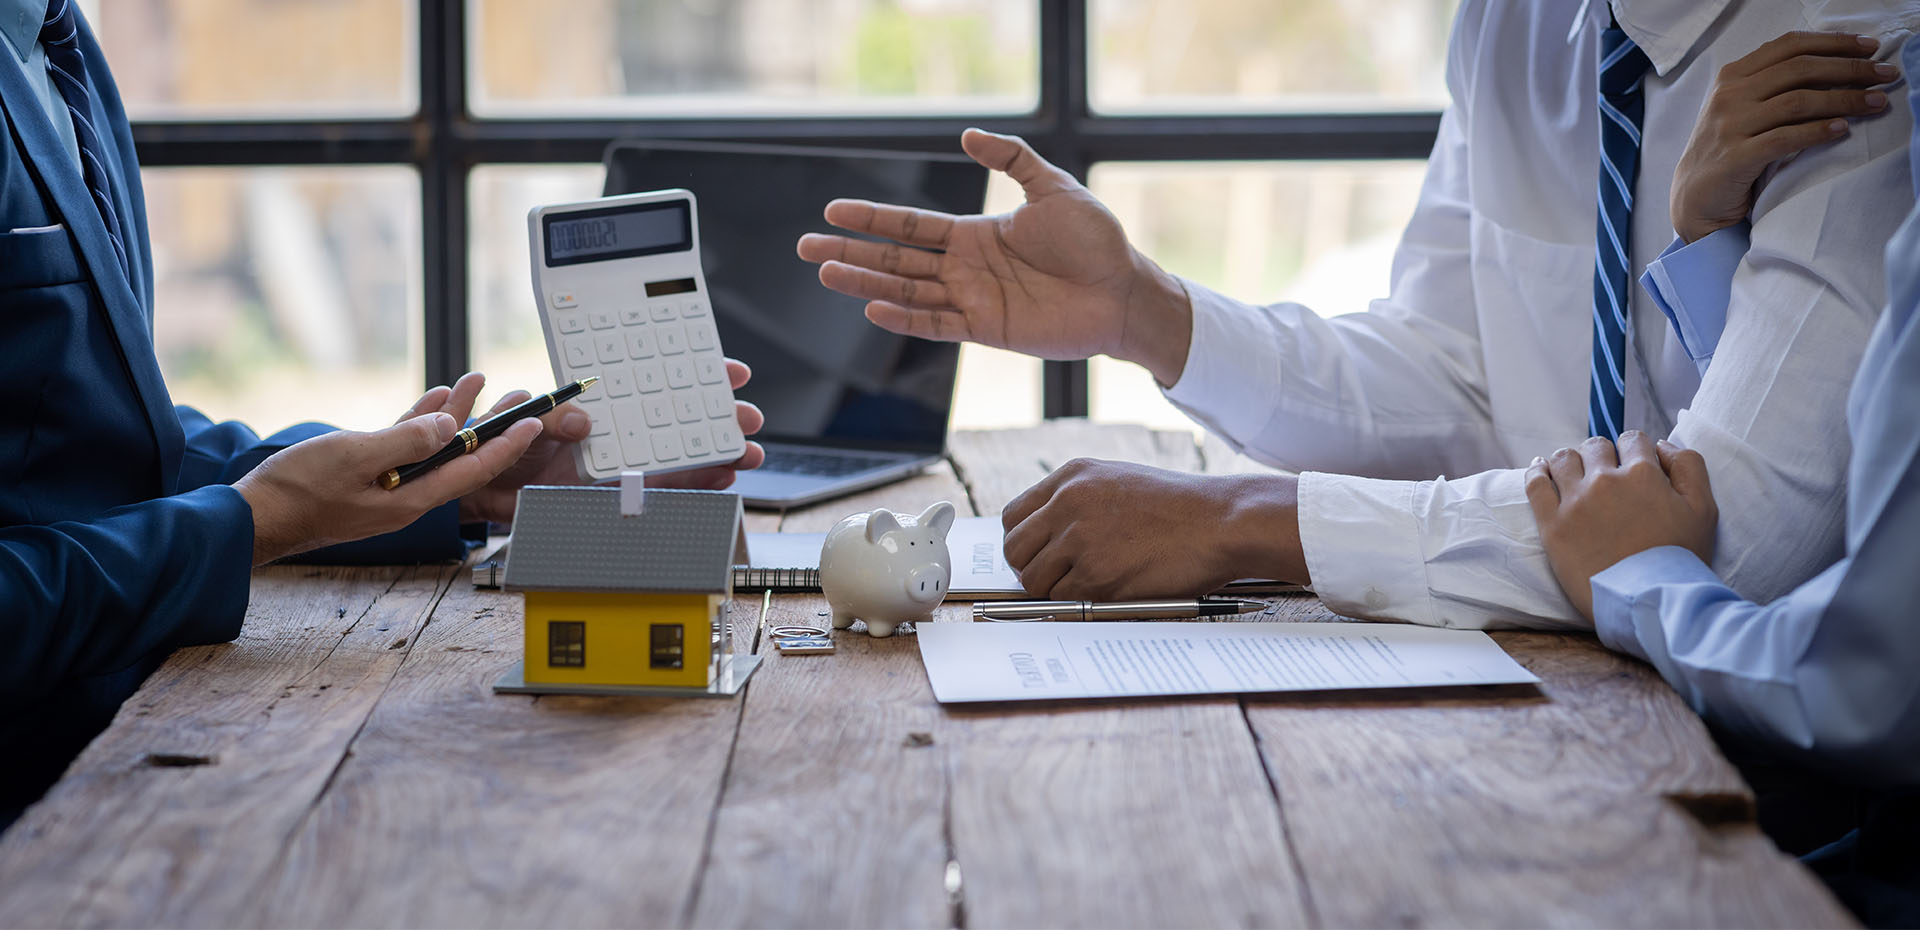
[[[952, 152], [960, 131], [1025, 136], [1081, 183], [1094, 161], [1425, 159], [1438, 111], [1102, 115], [1089, 106], [1087, 0], [1039, 0], [1039, 104], [1025, 115], [526, 119], [468, 110], [467, 0], [419, 0], [411, 117], [134, 121], [146, 167], [411, 165], [420, 177], [426, 382], [467, 371], [468, 177], [488, 163], [599, 163], [614, 138]], [[1041, 411], [1085, 417], [1087, 363], [1046, 361]]]

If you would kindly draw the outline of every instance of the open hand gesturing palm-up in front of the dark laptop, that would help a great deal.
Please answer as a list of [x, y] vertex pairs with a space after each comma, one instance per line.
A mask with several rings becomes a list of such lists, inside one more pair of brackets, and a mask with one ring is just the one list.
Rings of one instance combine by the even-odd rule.
[[1108, 354], [1179, 380], [1190, 309], [1177, 279], [1140, 256], [1114, 213], [1018, 136], [968, 129], [960, 148], [1020, 183], [1012, 213], [956, 217], [835, 200], [828, 223], [891, 242], [808, 232], [820, 282], [866, 298], [866, 317], [910, 336], [979, 342], [1048, 359]]

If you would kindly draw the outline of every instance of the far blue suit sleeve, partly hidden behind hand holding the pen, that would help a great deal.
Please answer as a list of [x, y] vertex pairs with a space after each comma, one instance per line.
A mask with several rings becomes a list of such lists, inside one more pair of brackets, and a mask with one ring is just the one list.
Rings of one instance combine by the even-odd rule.
[[[207, 415], [192, 407], [175, 407], [175, 413], [179, 413], [180, 430], [186, 434], [186, 455], [180, 465], [182, 490], [207, 484], [232, 484], [275, 452], [332, 430], [332, 427], [323, 423], [301, 423], [259, 438], [240, 423], [213, 423]], [[459, 502], [447, 502], [399, 530], [326, 546], [324, 550], [300, 553], [288, 561], [311, 565], [405, 565], [463, 559], [467, 557], [467, 540], [461, 538], [459, 519]]]

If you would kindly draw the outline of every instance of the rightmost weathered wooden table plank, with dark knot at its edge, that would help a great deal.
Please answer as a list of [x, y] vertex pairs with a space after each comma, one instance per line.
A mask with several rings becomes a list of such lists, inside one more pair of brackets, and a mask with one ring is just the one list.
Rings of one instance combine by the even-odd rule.
[[[1275, 471], [1212, 434], [1200, 453], [1210, 475]], [[1331, 619], [1315, 600], [1292, 607]], [[1590, 636], [1494, 638], [1544, 680], [1538, 698], [1246, 701], [1279, 797], [1313, 799], [1286, 805], [1286, 822], [1321, 920], [1851, 922], [1809, 872], [1782, 867], [1751, 790], [1651, 669]], [[1356, 857], [1375, 867], [1348, 869]]]

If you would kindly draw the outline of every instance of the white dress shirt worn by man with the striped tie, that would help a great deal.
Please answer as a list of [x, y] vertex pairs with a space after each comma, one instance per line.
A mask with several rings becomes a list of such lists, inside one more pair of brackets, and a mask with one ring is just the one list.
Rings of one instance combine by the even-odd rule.
[[[1615, 0], [1613, 13], [1655, 69], [1634, 184], [1638, 279], [1672, 240], [1674, 163], [1722, 65], [1793, 29], [1872, 35], [1876, 58], [1897, 60], [1920, 0]], [[1304, 471], [1300, 540], [1315, 592], [1340, 613], [1586, 626], [1553, 580], [1521, 477], [1586, 436], [1607, 15], [1605, 2], [1461, 4], [1453, 106], [1392, 294], [1371, 309], [1321, 319], [1188, 282], [1192, 346], [1167, 398], [1248, 455]], [[1912, 206], [1905, 94], [1901, 79], [1884, 115], [1766, 181], [1705, 377], [1632, 288], [1624, 425], [1705, 455], [1722, 502], [1713, 567], [1755, 601], [1841, 553], [1847, 384], [1885, 304], [1882, 252]]]

